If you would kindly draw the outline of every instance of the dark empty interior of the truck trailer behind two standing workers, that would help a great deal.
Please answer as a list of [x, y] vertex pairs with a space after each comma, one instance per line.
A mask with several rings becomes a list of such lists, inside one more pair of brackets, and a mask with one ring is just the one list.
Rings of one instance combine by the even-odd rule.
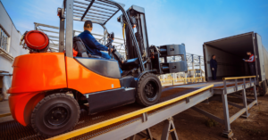
[[244, 62], [243, 59], [248, 59], [247, 51], [255, 53], [253, 35], [253, 32], [249, 32], [238, 36], [205, 42], [203, 47], [206, 80], [209, 81], [212, 79], [212, 72], [210, 70], [212, 55], [216, 55], [216, 61], [218, 62], [218, 79], [249, 76], [250, 72], [247, 62]]

